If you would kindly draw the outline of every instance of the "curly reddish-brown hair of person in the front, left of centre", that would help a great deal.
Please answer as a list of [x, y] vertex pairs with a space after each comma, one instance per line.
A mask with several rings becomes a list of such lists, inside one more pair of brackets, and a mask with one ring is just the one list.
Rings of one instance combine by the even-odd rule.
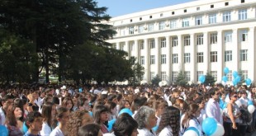
[[92, 117], [89, 115], [88, 110], [76, 110], [70, 117], [67, 124], [68, 136], [77, 136], [78, 128], [85, 125], [93, 123]]

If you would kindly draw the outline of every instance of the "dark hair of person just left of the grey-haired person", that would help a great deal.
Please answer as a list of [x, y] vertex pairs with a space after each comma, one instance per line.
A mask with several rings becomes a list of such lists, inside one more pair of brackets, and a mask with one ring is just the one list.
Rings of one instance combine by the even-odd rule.
[[127, 113], [118, 116], [112, 130], [116, 136], [130, 136], [138, 128], [138, 123]]

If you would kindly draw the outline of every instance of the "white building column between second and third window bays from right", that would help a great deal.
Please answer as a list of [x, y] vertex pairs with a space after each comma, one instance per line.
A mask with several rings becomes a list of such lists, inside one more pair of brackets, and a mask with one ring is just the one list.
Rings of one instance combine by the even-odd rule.
[[[218, 35], [217, 35], [217, 46], [218, 46], [218, 70], [217, 70], [217, 81], [221, 81], [222, 80], [222, 76], [223, 76], [223, 68], [224, 68], [224, 63], [223, 63], [223, 54], [224, 54], [224, 51], [223, 51], [223, 47], [225, 46], [224, 45], [224, 38], [223, 38], [223, 31], [222, 30], [219, 30], [218, 31]], [[209, 53], [209, 51], [208, 51]], [[207, 54], [209, 56], [209, 54]], [[209, 60], [209, 59], [208, 59]], [[209, 62], [208, 62], [209, 63]], [[230, 69], [232, 70], [232, 69]]]

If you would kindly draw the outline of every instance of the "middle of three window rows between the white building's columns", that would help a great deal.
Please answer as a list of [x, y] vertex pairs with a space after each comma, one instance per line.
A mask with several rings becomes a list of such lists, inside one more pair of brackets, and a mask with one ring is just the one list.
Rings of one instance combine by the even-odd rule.
[[[184, 63], [190, 63], [191, 61], [191, 54], [185, 53], [183, 55]], [[239, 50], [239, 61], [247, 61], [248, 59], [248, 49], [240, 49]], [[161, 54], [160, 56], [161, 64], [165, 64], [167, 61], [166, 54]], [[226, 50], [224, 54], [224, 61], [230, 62], [232, 61], [232, 50]], [[203, 52], [197, 53], [197, 63], [204, 62], [204, 54]], [[218, 62], [218, 54], [217, 51], [210, 52], [210, 62], [216, 63]], [[178, 54], [172, 54], [172, 63], [178, 63]], [[140, 56], [140, 64], [145, 64], [145, 56]], [[155, 55], [150, 55], [150, 64], [155, 64]]]

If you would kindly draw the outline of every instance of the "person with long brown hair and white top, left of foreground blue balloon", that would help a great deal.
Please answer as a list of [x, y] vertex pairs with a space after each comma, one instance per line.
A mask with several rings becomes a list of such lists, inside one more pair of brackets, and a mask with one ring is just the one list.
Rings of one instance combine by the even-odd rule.
[[197, 104], [191, 104], [188, 106], [187, 112], [181, 117], [180, 133], [184, 134], [187, 128], [195, 127], [199, 130], [200, 136], [203, 135], [201, 124], [197, 118], [200, 115], [200, 108]]

